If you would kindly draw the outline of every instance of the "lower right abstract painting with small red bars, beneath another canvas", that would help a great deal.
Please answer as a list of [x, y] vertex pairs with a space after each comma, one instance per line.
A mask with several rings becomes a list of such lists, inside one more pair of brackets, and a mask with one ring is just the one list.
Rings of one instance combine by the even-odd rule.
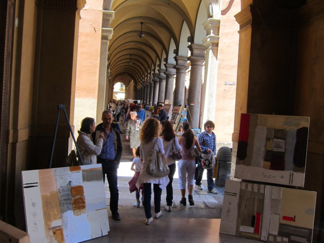
[[316, 192], [227, 180], [220, 232], [266, 242], [311, 242]]

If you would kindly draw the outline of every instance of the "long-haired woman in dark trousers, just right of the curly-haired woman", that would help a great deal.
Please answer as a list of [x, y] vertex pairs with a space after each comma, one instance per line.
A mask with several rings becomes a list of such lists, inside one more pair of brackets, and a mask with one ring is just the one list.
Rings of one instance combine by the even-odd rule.
[[169, 173], [169, 184], [167, 185], [167, 206], [166, 210], [171, 212], [171, 206], [173, 201], [173, 176], [176, 172], [176, 160], [181, 159], [180, 150], [181, 146], [179, 144], [178, 138], [172, 128], [169, 120], [164, 120], [161, 122], [161, 134], [160, 139], [163, 141], [163, 148], [168, 159], [168, 166], [170, 169]]

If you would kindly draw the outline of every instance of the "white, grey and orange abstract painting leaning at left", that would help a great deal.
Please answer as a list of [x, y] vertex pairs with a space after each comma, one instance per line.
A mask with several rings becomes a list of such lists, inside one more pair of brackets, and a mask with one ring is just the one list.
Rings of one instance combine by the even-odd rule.
[[31, 242], [81, 242], [107, 235], [101, 164], [22, 172]]

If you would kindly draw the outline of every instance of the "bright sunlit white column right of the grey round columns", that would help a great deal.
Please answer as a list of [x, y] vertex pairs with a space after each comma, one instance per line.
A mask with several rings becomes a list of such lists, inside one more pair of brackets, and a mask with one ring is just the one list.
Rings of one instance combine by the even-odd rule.
[[[218, 43], [219, 43], [219, 19], [208, 19], [204, 23], [207, 37], [203, 39], [203, 45], [206, 47], [205, 56], [205, 75], [203, 83], [203, 92], [201, 95], [201, 120], [200, 124], [206, 120], [215, 120], [216, 97], [217, 97], [217, 64], [218, 64]], [[222, 101], [221, 101], [222, 102]], [[219, 114], [221, 118], [221, 114]], [[223, 117], [224, 118], [224, 117]]]

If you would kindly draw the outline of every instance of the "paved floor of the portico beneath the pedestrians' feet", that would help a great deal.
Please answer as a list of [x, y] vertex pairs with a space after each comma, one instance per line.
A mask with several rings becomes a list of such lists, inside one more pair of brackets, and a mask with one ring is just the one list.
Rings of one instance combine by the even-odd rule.
[[[129, 141], [125, 139], [125, 127], [121, 126], [121, 140], [123, 143], [123, 156], [118, 169], [118, 189], [119, 203], [118, 210], [121, 219], [112, 220], [111, 213], [108, 208], [109, 215], [109, 235], [89, 240], [89, 243], [102, 242], [219, 242], [231, 243], [242, 242], [252, 243], [258, 242], [250, 239], [240, 238], [236, 236], [219, 233], [219, 225], [223, 204], [224, 188], [216, 187], [218, 194], [207, 192], [206, 173], [203, 177], [203, 190], [194, 188], [193, 199], [194, 206], [180, 206], [180, 190], [178, 183], [178, 171], [175, 173], [173, 181], [174, 200], [172, 211], [168, 212], [164, 208], [166, 206], [166, 190], [162, 191], [161, 211], [162, 215], [159, 219], [154, 219], [150, 225], [145, 225], [144, 207], [133, 207], [136, 199], [135, 192], [130, 193], [128, 181], [133, 177], [134, 172], [131, 171], [132, 151], [129, 147]], [[105, 193], [107, 206], [109, 205], [109, 188], [105, 183]], [[153, 206], [153, 197], [151, 201]], [[154, 209], [152, 207], [152, 213]]]

